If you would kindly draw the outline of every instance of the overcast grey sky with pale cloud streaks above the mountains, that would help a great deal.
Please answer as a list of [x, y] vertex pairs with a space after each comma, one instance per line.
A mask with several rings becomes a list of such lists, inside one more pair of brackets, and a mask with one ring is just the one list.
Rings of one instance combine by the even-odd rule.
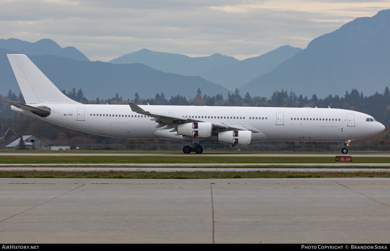
[[390, 0], [0, 0], [0, 38], [49, 38], [90, 60], [138, 51], [240, 60], [390, 8]]

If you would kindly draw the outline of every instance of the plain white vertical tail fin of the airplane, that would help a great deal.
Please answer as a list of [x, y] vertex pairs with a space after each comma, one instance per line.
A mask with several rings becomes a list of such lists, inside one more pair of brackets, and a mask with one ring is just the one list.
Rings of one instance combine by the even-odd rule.
[[7, 54], [7, 57], [26, 104], [81, 104], [58, 90], [26, 55]]

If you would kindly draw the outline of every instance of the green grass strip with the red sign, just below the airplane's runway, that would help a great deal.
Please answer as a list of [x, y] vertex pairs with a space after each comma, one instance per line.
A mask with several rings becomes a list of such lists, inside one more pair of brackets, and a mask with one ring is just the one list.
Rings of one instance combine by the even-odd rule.
[[[0, 164], [131, 164], [131, 163], [335, 163], [335, 157], [223, 156], [0, 156]], [[353, 157], [353, 163], [390, 163], [390, 157]]]

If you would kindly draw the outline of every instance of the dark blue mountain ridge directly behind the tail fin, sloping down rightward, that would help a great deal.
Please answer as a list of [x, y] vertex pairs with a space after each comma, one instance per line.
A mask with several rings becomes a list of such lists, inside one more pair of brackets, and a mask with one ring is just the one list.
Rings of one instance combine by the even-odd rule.
[[[0, 94], [6, 95], [11, 89], [16, 95], [20, 89], [8, 58], [5, 54], [18, 53], [0, 48]], [[71, 90], [83, 89], [88, 99], [110, 98], [118, 92], [124, 99], [154, 97], [163, 92], [166, 97], [183, 95], [195, 97], [197, 89], [203, 94], [224, 96], [228, 90], [200, 78], [165, 73], [144, 64], [110, 64], [106, 62], [78, 61], [54, 55], [28, 56], [32, 62], [58, 87]]]

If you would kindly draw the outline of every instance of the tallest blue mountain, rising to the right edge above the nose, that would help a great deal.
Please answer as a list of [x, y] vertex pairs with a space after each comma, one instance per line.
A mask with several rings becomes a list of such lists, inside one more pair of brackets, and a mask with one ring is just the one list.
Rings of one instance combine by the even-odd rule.
[[390, 10], [383, 10], [317, 37], [293, 58], [240, 90], [270, 97], [276, 89], [284, 88], [324, 97], [357, 88], [371, 95], [390, 85], [389, 67]]

